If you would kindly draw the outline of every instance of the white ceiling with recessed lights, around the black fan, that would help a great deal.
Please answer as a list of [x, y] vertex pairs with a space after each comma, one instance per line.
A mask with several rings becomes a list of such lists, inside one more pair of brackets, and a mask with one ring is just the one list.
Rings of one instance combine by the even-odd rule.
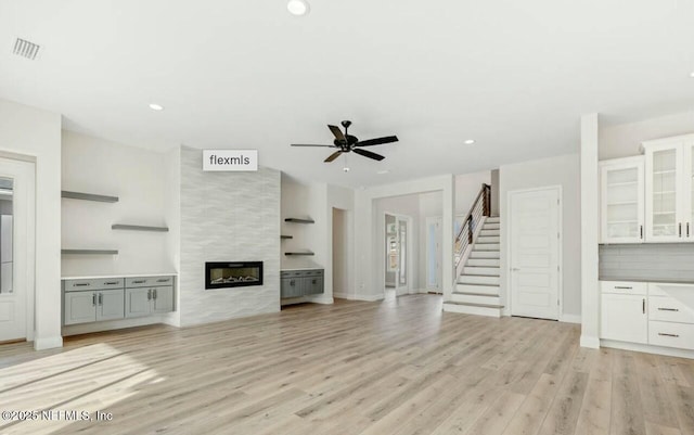
[[[0, 0], [0, 98], [352, 187], [577, 152], [583, 113], [694, 105], [694, 0], [309, 1], [295, 17], [285, 0]], [[12, 54], [16, 37], [36, 61]], [[342, 119], [400, 142], [370, 149], [381, 163], [350, 154], [347, 174], [322, 163], [332, 150], [288, 146], [331, 143]]]

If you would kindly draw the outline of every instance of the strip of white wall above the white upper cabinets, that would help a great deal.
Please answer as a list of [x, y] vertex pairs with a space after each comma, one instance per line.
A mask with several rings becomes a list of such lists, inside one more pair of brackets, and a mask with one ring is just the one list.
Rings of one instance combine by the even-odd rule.
[[694, 132], [694, 112], [600, 127], [599, 159], [641, 154], [641, 142]]

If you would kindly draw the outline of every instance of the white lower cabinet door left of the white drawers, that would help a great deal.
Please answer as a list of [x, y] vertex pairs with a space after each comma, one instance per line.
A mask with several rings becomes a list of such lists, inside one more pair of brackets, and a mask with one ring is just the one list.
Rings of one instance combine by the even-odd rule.
[[646, 296], [603, 293], [600, 337], [647, 343]]

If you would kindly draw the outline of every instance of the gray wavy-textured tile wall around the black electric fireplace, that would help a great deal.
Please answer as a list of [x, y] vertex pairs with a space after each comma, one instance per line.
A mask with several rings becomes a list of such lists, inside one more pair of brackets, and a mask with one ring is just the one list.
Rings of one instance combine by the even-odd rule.
[[[181, 325], [280, 310], [280, 171], [204, 172], [181, 148]], [[259, 286], [205, 290], [205, 261], [262, 261]]]

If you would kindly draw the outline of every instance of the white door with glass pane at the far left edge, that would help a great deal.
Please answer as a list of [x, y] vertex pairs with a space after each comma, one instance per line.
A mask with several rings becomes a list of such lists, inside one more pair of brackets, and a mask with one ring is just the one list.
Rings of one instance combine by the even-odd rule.
[[34, 338], [34, 163], [0, 158], [0, 342]]

